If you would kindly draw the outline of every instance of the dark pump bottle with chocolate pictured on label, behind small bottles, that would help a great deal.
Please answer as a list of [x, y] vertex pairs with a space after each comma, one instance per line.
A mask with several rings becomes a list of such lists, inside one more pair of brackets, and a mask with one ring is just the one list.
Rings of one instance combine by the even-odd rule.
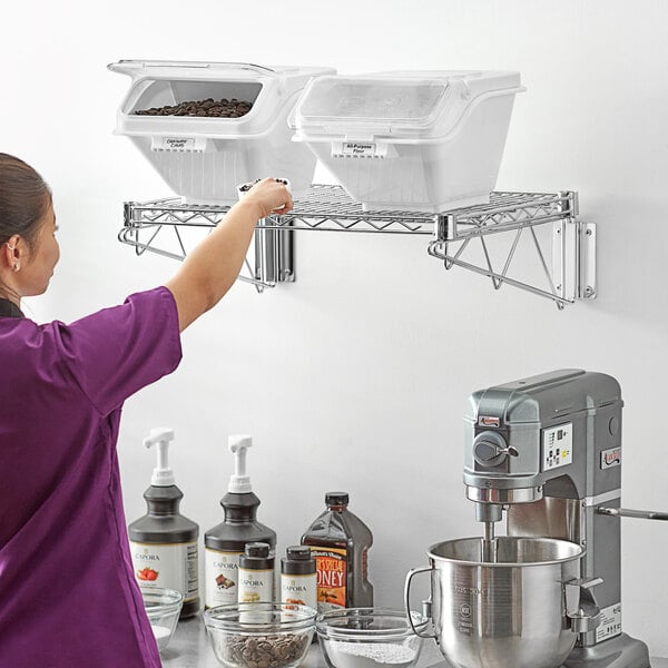
[[276, 533], [255, 518], [259, 499], [253, 493], [250, 478], [246, 473], [246, 453], [253, 445], [247, 435], [230, 435], [229, 451], [234, 455], [234, 473], [229, 479], [227, 494], [220, 500], [225, 511], [224, 521], [204, 536], [206, 608], [236, 603], [239, 596], [239, 557], [247, 543], [267, 543], [274, 552]]

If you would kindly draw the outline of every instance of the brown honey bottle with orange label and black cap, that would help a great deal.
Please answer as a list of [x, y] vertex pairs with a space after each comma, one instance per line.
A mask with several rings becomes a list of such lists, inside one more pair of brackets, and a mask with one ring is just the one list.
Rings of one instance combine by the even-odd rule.
[[369, 527], [348, 509], [348, 494], [327, 492], [327, 509], [302, 536], [316, 562], [317, 610], [373, 607], [369, 581]]

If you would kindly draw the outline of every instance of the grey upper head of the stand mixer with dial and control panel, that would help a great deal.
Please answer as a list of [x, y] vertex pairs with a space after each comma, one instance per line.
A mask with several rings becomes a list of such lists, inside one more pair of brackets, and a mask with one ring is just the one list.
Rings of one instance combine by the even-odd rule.
[[474, 392], [465, 416], [463, 478], [477, 519], [498, 522], [504, 508], [548, 493], [586, 498], [587, 470], [595, 469], [597, 454], [591, 424], [601, 406], [613, 404], [621, 405], [617, 381], [580, 370]]

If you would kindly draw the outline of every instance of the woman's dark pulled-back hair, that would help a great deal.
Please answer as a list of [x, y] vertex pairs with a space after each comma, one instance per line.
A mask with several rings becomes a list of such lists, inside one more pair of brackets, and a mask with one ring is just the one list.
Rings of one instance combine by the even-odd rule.
[[30, 165], [0, 153], [0, 244], [14, 234], [32, 247], [51, 190]]

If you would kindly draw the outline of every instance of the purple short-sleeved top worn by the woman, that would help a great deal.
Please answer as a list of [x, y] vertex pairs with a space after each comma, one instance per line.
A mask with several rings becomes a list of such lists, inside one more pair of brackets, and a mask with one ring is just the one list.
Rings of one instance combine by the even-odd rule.
[[0, 317], [0, 668], [147, 668], [116, 441], [124, 401], [173, 372], [166, 287], [70, 325]]

